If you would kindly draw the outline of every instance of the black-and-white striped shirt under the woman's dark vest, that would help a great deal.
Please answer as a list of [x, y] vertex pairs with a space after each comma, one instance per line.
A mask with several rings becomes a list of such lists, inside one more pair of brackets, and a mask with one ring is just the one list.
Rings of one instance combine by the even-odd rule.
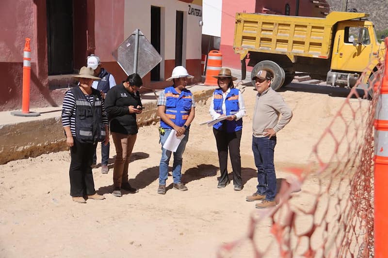
[[[86, 95], [86, 99], [93, 105], [93, 95]], [[108, 116], [105, 111], [104, 99], [101, 99], [102, 122], [108, 125]], [[62, 105], [62, 125], [70, 126], [71, 135], [76, 137], [76, 100], [73, 92], [67, 91]]]

